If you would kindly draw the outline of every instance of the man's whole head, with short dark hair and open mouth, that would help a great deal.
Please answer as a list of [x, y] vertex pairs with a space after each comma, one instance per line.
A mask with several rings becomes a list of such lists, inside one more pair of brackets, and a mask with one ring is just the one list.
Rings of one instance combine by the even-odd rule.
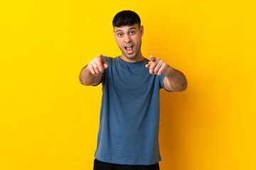
[[121, 57], [126, 57], [129, 61], [142, 58], [140, 48], [144, 28], [140, 24], [140, 18], [134, 11], [121, 11], [112, 21], [114, 38], [122, 51]]

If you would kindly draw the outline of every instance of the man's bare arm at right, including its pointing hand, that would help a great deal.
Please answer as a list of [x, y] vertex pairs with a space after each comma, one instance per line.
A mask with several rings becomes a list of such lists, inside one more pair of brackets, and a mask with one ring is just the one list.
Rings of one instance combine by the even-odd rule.
[[165, 74], [164, 77], [164, 88], [168, 91], [184, 91], [187, 88], [187, 81], [185, 75], [169, 66], [158, 57], [149, 57], [150, 62], [145, 65], [146, 68], [149, 68], [150, 74]]

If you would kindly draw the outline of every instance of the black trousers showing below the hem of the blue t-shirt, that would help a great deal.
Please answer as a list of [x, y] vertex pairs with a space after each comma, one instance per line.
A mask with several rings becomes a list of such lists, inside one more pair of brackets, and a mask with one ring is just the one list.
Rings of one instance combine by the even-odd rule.
[[93, 170], [159, 170], [159, 163], [151, 165], [124, 165], [101, 162], [95, 158]]

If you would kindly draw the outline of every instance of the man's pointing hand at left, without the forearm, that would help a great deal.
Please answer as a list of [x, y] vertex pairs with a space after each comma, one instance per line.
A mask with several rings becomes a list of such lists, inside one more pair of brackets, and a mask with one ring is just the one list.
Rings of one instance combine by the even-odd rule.
[[108, 63], [105, 62], [102, 54], [98, 55], [98, 57], [95, 57], [88, 64], [89, 71], [94, 76], [97, 76], [97, 74], [104, 72], [104, 69], [107, 69], [107, 67], [108, 67]]

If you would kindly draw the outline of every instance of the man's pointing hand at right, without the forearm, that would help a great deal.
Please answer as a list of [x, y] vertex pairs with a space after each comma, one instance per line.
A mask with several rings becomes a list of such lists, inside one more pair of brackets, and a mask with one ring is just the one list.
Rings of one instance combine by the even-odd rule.
[[171, 67], [166, 64], [163, 60], [158, 57], [149, 56], [150, 62], [145, 65], [146, 68], [149, 68], [150, 74], [169, 74], [171, 72]]

